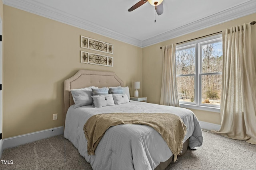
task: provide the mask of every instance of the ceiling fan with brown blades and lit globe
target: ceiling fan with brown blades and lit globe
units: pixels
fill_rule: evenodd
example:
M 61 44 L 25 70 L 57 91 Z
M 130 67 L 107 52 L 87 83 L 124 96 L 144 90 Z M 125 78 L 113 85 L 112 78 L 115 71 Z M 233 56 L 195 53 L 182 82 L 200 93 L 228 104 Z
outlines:
M 149 2 L 152 6 L 155 6 L 156 13 L 160 16 L 164 13 L 164 6 L 163 6 L 163 0 L 140 0 L 137 2 L 134 6 L 132 6 L 128 11 L 131 12 L 135 10 L 136 8 L 142 6 L 146 2 Z

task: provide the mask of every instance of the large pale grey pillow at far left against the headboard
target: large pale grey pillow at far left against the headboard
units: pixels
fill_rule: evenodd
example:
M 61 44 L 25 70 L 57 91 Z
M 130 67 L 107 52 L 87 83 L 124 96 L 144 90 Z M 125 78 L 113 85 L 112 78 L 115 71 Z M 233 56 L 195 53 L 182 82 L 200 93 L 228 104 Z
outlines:
M 92 90 L 91 89 L 71 89 L 71 94 L 75 103 L 74 108 L 92 105 Z

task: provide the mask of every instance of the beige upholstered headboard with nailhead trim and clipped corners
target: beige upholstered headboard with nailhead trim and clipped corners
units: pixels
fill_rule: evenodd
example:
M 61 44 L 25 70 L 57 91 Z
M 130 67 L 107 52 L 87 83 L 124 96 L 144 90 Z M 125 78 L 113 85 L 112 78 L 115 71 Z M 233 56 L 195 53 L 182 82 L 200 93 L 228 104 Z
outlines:
M 84 88 L 89 86 L 115 87 L 123 86 L 123 81 L 114 72 L 79 70 L 74 76 L 64 81 L 64 123 L 68 108 L 74 104 L 70 89 Z

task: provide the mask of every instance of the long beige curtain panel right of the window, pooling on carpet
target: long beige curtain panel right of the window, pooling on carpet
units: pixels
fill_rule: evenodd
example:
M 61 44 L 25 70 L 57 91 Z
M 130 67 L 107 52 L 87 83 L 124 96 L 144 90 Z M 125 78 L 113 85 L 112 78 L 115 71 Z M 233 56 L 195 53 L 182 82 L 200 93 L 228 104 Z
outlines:
M 222 31 L 221 127 L 212 131 L 256 145 L 256 64 L 250 23 Z

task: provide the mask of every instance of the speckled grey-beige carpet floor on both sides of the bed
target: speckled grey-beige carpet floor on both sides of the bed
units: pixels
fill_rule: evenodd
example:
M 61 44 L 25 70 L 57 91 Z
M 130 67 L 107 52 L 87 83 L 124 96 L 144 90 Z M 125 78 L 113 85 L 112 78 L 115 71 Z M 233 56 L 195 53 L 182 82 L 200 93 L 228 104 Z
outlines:
M 256 170 L 256 145 L 209 131 L 203 131 L 203 137 L 202 147 L 188 149 L 166 170 Z M 1 162 L 1 170 L 92 170 L 63 135 L 5 149 Z

